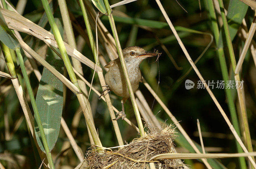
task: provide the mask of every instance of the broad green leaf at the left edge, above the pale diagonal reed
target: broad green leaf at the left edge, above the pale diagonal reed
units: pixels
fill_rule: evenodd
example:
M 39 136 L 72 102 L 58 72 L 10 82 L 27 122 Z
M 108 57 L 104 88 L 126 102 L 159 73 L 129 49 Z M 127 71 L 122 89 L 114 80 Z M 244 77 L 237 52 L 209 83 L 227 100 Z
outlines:
M 14 36 L 12 31 L 8 28 L 4 17 L 0 11 L 0 40 L 4 43 L 4 45 L 8 46 L 11 49 L 15 49 L 20 47 L 20 43 L 18 39 Z

